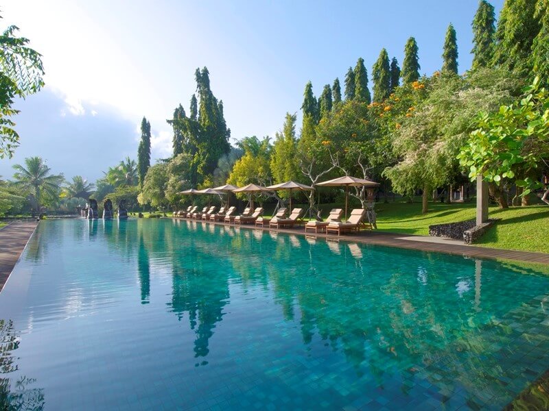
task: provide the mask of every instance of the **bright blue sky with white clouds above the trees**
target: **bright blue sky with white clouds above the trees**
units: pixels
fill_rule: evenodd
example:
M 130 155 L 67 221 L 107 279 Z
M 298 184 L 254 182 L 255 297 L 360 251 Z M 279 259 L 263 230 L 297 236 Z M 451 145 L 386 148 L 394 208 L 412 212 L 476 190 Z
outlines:
M 496 16 L 504 0 L 491 0 Z M 478 0 L 8 0 L 1 29 L 17 25 L 43 55 L 46 86 L 16 102 L 21 145 L 0 159 L 0 175 L 40 155 L 54 173 L 90 181 L 126 156 L 137 160 L 141 119 L 152 129 L 152 162 L 170 157 L 166 123 L 187 113 L 194 71 L 207 66 L 224 103 L 231 142 L 274 137 L 286 112 L 297 113 L 310 80 L 318 97 L 343 82 L 358 58 L 379 51 L 401 65 L 414 36 L 421 73 L 440 69 L 446 29 L 457 32 L 459 71 L 471 66 Z M 371 82 L 370 82 L 371 88 Z

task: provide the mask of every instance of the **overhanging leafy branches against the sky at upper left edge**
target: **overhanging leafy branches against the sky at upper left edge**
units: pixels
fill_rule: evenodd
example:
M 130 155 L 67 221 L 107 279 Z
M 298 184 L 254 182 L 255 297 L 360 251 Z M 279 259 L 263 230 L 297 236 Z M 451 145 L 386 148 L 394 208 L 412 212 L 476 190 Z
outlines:
M 19 113 L 12 108 L 14 98 L 25 98 L 44 85 L 41 55 L 27 46 L 27 38 L 16 36 L 18 30 L 12 25 L 0 35 L 0 158 L 11 158 L 19 145 L 10 119 Z

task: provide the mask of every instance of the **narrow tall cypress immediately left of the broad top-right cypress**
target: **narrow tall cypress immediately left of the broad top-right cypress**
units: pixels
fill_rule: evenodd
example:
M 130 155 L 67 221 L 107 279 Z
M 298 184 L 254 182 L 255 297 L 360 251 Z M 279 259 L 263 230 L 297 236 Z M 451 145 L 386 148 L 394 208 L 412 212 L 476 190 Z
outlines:
M 473 19 L 473 69 L 487 67 L 493 58 L 495 13 L 493 5 L 480 0 Z

